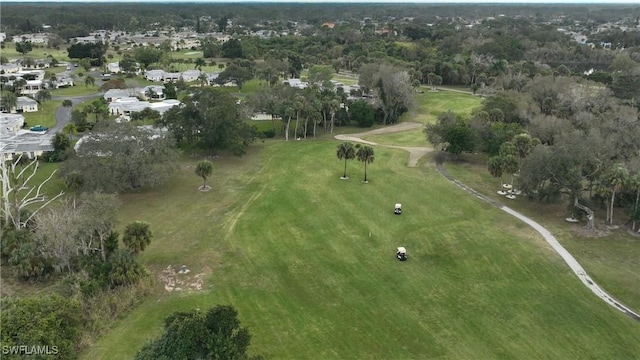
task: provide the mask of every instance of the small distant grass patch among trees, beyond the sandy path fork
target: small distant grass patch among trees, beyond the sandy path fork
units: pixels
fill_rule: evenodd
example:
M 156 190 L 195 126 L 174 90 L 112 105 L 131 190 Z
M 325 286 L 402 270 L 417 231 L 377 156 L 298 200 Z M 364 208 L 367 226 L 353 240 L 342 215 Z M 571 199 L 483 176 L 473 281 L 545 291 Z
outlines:
M 449 110 L 456 114 L 470 115 L 471 111 L 482 104 L 482 98 L 462 92 L 440 89 L 428 91 L 422 87 L 423 94 L 417 94 L 418 110 L 412 121 L 421 123 L 434 122 L 438 115 Z

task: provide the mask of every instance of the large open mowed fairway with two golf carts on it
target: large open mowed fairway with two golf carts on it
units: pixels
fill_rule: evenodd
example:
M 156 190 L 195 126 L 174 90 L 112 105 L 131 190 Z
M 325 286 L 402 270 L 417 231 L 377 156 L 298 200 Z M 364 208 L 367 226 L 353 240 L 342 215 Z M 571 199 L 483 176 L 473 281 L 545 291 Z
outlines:
M 122 196 L 122 227 L 151 224 L 153 276 L 187 265 L 204 283 L 167 292 L 158 280 L 82 357 L 132 358 L 172 312 L 230 304 L 270 359 L 638 358 L 640 324 L 526 225 L 431 161 L 407 168 L 400 150 L 375 148 L 369 184 L 356 161 L 340 180 L 337 144 L 274 140 L 216 159 L 207 193 L 189 158 L 167 185 Z

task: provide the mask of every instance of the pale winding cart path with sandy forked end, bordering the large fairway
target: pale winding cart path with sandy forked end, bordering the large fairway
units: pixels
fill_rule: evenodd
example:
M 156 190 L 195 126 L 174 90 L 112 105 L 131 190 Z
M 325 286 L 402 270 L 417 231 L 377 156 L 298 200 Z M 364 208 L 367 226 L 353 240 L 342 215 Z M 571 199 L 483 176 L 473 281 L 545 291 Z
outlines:
M 367 131 L 364 133 L 336 135 L 335 138 L 337 140 L 354 141 L 354 142 L 364 143 L 372 146 L 385 146 L 385 147 L 394 148 L 394 149 L 404 149 L 409 152 L 409 161 L 407 166 L 415 167 L 418 163 L 418 160 L 420 160 L 420 158 L 422 158 L 427 153 L 433 151 L 432 148 L 383 145 L 383 144 L 377 144 L 371 141 L 363 140 L 362 137 L 368 136 L 368 135 L 376 135 L 376 134 L 388 134 L 388 133 L 394 133 L 398 131 L 415 130 L 422 126 L 423 125 L 419 123 L 406 122 L 406 123 L 400 123 L 393 126 L 389 126 L 386 128 Z M 611 305 L 614 309 L 622 312 L 623 314 L 627 315 L 631 319 L 640 322 L 640 314 L 638 314 L 637 312 L 634 312 L 629 307 L 623 305 L 621 302 L 614 299 L 611 295 L 609 295 L 606 291 L 604 291 L 598 284 L 596 284 L 591 279 L 591 277 L 589 277 L 589 275 L 584 270 L 584 268 L 578 263 L 578 261 L 567 251 L 567 249 L 565 249 L 562 245 L 560 245 L 558 240 L 555 238 L 555 236 L 553 236 L 553 234 L 551 234 L 551 232 L 549 232 L 549 230 L 545 229 L 542 225 L 538 224 L 533 219 L 527 216 L 524 216 L 523 214 L 507 206 L 504 206 L 503 204 L 500 204 L 499 202 L 494 201 L 485 195 L 480 194 L 479 192 L 473 190 L 472 188 L 456 180 L 453 176 L 447 173 L 447 171 L 442 166 L 444 162 L 443 159 L 444 159 L 444 156 L 436 157 L 436 167 L 438 169 L 438 172 L 440 172 L 442 176 L 444 176 L 447 180 L 451 181 L 453 184 L 455 184 L 462 190 L 468 192 L 469 194 L 506 212 L 511 216 L 514 216 L 518 220 L 531 226 L 534 230 L 540 233 L 540 235 L 542 235 L 542 237 L 551 246 L 551 248 L 556 253 L 558 253 L 558 255 L 560 255 L 560 257 L 564 260 L 564 262 L 567 263 L 569 268 L 576 274 L 576 276 L 578 276 L 578 279 L 584 284 L 584 286 L 586 286 L 589 290 L 591 290 L 596 296 L 604 300 L 607 304 Z

